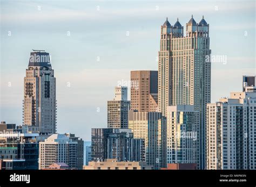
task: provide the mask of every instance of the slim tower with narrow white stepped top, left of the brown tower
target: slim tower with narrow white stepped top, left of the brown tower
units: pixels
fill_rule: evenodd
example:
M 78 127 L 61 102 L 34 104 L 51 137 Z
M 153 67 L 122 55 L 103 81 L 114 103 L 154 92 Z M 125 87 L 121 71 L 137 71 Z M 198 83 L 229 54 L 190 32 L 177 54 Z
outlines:
M 114 99 L 107 101 L 107 128 L 128 128 L 127 87 L 115 87 Z

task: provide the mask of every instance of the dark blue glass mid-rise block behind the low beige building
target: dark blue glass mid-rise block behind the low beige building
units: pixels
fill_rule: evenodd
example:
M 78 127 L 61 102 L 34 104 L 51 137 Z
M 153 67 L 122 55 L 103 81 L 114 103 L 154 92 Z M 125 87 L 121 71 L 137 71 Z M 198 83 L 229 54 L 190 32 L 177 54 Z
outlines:
M 92 128 L 92 161 L 145 161 L 144 139 L 134 139 L 130 129 Z

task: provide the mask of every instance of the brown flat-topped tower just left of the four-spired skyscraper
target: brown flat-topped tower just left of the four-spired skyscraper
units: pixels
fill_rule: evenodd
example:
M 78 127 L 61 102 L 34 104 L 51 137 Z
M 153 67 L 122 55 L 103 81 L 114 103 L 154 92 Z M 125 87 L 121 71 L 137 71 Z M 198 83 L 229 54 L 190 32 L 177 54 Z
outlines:
M 158 111 L 157 71 L 131 71 L 131 110 Z

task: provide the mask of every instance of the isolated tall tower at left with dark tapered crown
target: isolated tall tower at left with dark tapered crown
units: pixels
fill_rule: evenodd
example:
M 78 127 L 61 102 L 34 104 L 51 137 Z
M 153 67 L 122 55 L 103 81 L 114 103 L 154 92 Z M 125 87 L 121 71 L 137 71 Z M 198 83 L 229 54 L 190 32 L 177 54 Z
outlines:
M 56 78 L 50 55 L 30 53 L 24 77 L 23 124 L 41 133 L 56 133 Z

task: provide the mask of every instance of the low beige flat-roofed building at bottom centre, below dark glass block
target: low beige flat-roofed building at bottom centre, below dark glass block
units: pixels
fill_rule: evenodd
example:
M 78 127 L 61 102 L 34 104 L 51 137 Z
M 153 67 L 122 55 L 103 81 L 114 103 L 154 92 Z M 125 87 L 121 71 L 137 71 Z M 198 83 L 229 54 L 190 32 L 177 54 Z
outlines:
M 146 162 L 118 162 L 117 159 L 107 159 L 105 162 L 89 162 L 84 170 L 151 170 Z

